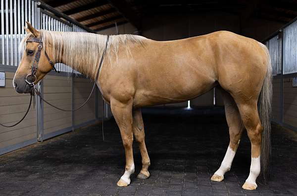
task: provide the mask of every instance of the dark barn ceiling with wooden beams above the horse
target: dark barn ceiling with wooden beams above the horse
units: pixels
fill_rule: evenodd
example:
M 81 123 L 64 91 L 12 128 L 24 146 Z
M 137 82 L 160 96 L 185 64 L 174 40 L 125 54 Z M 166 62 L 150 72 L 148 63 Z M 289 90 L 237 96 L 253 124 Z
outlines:
M 297 17 L 297 0 L 43 0 L 92 30 L 130 22 L 141 30 L 141 19 L 159 13 L 224 11 L 242 22 L 261 18 L 288 23 Z

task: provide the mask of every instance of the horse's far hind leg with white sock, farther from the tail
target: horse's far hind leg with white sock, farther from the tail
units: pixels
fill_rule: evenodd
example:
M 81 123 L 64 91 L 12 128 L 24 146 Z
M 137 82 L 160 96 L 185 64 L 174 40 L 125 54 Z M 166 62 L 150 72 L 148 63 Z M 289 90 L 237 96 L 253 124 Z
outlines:
M 243 132 L 241 116 L 234 99 L 226 91 L 221 91 L 224 99 L 226 119 L 229 126 L 230 142 L 220 168 L 211 177 L 212 181 L 217 182 L 224 180 L 224 174 L 230 170 Z

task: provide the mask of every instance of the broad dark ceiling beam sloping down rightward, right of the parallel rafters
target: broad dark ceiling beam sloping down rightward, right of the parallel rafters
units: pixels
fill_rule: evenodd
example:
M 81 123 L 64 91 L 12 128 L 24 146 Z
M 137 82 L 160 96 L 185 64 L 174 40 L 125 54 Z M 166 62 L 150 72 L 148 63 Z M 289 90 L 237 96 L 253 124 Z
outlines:
M 108 0 L 120 13 L 123 14 L 124 18 L 135 26 L 138 30 L 141 30 L 141 21 L 139 14 L 131 8 L 131 4 L 125 0 Z

